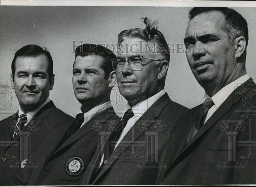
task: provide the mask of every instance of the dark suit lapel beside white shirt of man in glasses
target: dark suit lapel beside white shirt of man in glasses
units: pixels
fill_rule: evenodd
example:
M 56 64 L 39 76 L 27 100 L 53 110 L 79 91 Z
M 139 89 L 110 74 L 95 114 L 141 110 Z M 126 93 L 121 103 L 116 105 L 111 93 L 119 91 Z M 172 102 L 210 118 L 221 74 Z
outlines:
M 127 134 L 124 136 L 123 141 L 125 141 L 125 145 L 123 146 L 117 146 L 116 149 L 113 151 L 111 155 L 111 161 L 112 163 L 115 162 L 115 160 L 124 152 L 124 150 L 131 145 L 143 132 L 147 130 L 148 127 L 150 127 L 154 122 L 155 118 L 158 118 L 160 113 L 162 112 L 163 108 L 171 102 L 171 99 L 169 98 L 168 94 L 165 93 L 162 97 L 160 97 L 156 102 L 153 103 L 153 105 L 141 116 L 138 121 L 132 126 L 132 128 L 127 132 Z M 147 123 L 147 127 L 142 127 L 143 125 L 140 124 L 142 122 L 145 124 Z M 141 126 L 141 127 L 140 127 Z M 144 128 L 142 130 L 142 128 Z M 119 143 L 121 145 L 122 142 Z M 112 159 L 113 158 L 113 159 Z M 99 175 L 94 180 L 97 181 L 99 177 L 111 166 L 111 162 L 107 162 L 105 164 L 105 167 L 102 168 Z

